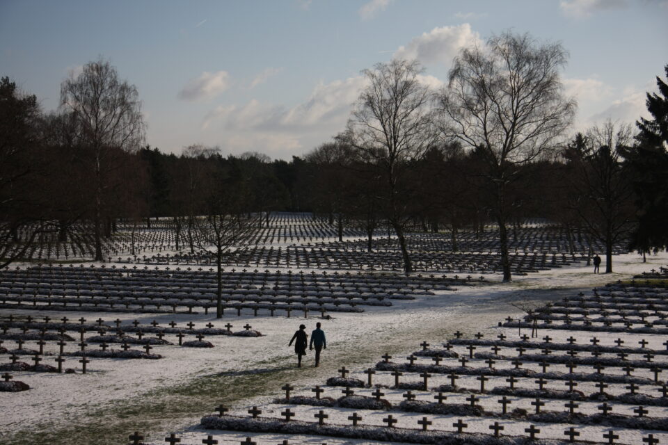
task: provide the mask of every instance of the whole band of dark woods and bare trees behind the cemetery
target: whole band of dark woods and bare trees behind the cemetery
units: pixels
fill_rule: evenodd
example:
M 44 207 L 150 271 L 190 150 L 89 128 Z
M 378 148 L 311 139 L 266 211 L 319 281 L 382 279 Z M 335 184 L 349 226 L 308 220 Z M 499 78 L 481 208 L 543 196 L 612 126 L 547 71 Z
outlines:
M 601 241 L 611 272 L 616 243 L 643 254 L 668 245 L 668 87 L 657 77 L 658 92 L 648 93 L 651 120 L 568 138 L 576 104 L 560 80 L 565 63 L 561 45 L 514 33 L 462 49 L 438 88 L 415 61 L 379 63 L 363 72 L 347 126 L 289 161 L 150 147 L 138 91 L 106 60 L 70 74 L 51 113 L 3 77 L 0 268 L 45 236 L 102 260 L 119 220 L 150 227 L 169 218 L 177 249 L 194 252 L 202 239 L 239 242 L 227 229 L 224 239 L 202 238 L 202 216 L 210 235 L 212 216 L 218 228 L 225 218 L 260 227 L 272 211 L 310 211 L 340 238 L 345 226 L 365 229 L 369 250 L 388 229 L 407 273 L 406 231 L 447 231 L 457 250 L 461 229 L 494 223 L 509 281 L 508 240 L 530 216 L 561 223 L 569 239 Z

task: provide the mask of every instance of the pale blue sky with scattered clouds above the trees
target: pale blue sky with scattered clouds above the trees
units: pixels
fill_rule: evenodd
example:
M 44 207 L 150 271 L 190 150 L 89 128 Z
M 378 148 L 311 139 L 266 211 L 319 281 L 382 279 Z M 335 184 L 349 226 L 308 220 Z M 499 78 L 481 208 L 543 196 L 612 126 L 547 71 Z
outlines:
M 103 58 L 138 89 L 152 147 L 291 159 L 344 129 L 362 70 L 417 59 L 438 88 L 461 48 L 504 31 L 568 51 L 573 131 L 633 123 L 667 23 L 668 0 L 0 0 L 0 76 L 54 111 L 70 72 Z

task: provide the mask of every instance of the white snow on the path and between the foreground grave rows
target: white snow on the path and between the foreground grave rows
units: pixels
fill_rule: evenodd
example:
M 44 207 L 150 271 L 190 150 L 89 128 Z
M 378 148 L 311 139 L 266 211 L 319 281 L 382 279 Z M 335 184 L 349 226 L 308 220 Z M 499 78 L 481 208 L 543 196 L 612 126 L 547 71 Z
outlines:
M 544 302 L 552 300 L 560 300 L 564 296 L 575 296 L 579 291 L 591 295 L 591 288 L 594 286 L 603 286 L 607 282 L 615 280 L 628 279 L 634 274 L 642 271 L 650 270 L 651 268 L 658 268 L 665 266 L 668 263 L 668 254 L 662 253 L 656 256 L 648 256 L 648 262 L 642 263 L 637 254 L 624 254 L 619 257 L 614 257 L 614 270 L 616 273 L 594 275 L 591 273 L 593 267 L 587 267 L 583 264 L 573 264 L 568 267 L 556 268 L 552 270 L 543 270 L 539 273 L 532 273 L 522 277 L 515 277 L 511 284 L 501 284 L 499 277 L 489 277 L 489 280 L 494 282 L 491 284 L 481 284 L 477 286 L 461 286 L 455 291 L 436 291 L 434 296 L 417 296 L 415 300 L 392 300 L 391 307 L 364 307 L 363 313 L 337 313 L 333 314 L 331 320 L 321 320 L 323 328 L 327 333 L 328 349 L 323 351 L 324 366 L 321 369 L 314 370 L 309 373 L 308 378 L 298 378 L 292 384 L 296 386 L 294 394 L 302 394 L 311 396 L 309 389 L 315 385 L 324 385 L 327 378 L 336 375 L 335 369 L 338 366 L 345 365 L 351 369 L 351 377 L 366 381 L 366 375 L 361 373 L 363 369 L 369 366 L 374 366 L 379 362 L 380 356 L 383 353 L 390 353 L 395 355 L 397 362 L 403 362 L 404 357 L 411 353 L 420 350 L 418 346 L 423 340 L 427 340 L 432 344 L 432 347 L 439 345 L 439 342 L 446 341 L 447 338 L 452 337 L 455 330 L 464 332 L 468 337 L 471 337 L 475 332 L 482 332 L 486 339 L 495 338 L 497 334 L 504 333 L 509 339 L 518 339 L 518 332 L 522 334 L 530 334 L 530 330 L 522 328 L 497 327 L 497 322 L 501 321 L 506 316 L 511 316 L 515 319 L 523 315 L 515 307 L 510 305 L 511 302 Z M 3 309 L 3 315 L 15 314 L 22 316 L 36 316 L 37 313 L 26 309 Z M 296 330 L 299 323 L 305 323 L 307 330 L 315 327 L 317 321 L 317 314 L 309 316 L 304 319 L 302 316 L 295 316 L 287 318 L 285 316 L 257 316 L 252 314 L 242 313 L 240 317 L 235 314 L 228 314 L 226 312 L 222 321 L 216 320 L 214 314 L 132 314 L 123 312 L 49 312 L 51 318 L 61 318 L 67 316 L 69 318 L 78 318 L 83 315 L 88 320 L 95 320 L 98 317 L 104 318 L 105 321 L 111 321 L 120 318 L 122 323 L 128 324 L 133 320 L 138 320 L 141 323 L 150 323 L 150 321 L 158 321 L 162 325 L 175 321 L 179 325 L 183 325 L 189 321 L 193 321 L 196 327 L 203 328 L 209 322 L 214 323 L 216 327 L 223 327 L 224 323 L 232 323 L 235 327 L 241 327 L 246 323 L 253 325 L 253 328 L 262 332 L 263 337 L 232 337 L 232 336 L 207 336 L 205 341 L 209 341 L 214 345 L 214 348 L 183 348 L 177 346 L 178 339 L 172 335 L 166 335 L 165 339 L 173 343 L 172 345 L 154 346 L 152 353 L 162 355 L 162 359 L 146 360 L 146 359 L 105 359 L 105 358 L 91 358 L 88 364 L 88 373 L 81 374 L 58 374 L 58 373 L 31 373 L 31 372 L 15 372 L 14 380 L 23 381 L 30 385 L 29 391 L 22 391 L 16 393 L 3 393 L 3 406 L 12 407 L 11 410 L 3 410 L 3 415 L 0 416 L 0 442 L 3 437 L 11 437 L 13 433 L 26 430 L 29 428 L 38 428 L 40 425 L 51 422 L 60 422 L 62 419 L 85 419 L 88 414 L 98 408 L 113 404 L 115 401 L 127 400 L 129 398 L 143 397 L 150 394 L 155 389 L 170 387 L 181 382 L 192 380 L 193 378 L 201 378 L 207 375 L 218 375 L 225 373 L 226 375 L 234 375 L 235 373 L 244 373 L 246 371 L 262 372 L 266 367 L 280 367 L 280 366 L 294 366 L 294 357 L 292 348 L 287 346 L 289 338 L 292 337 L 292 332 Z M 10 332 L 18 332 L 12 331 Z M 94 332 L 90 333 L 91 336 Z M 663 349 L 662 341 L 665 337 L 658 337 L 649 334 L 617 334 L 605 332 L 573 332 L 568 330 L 557 329 L 541 329 L 539 330 L 539 337 L 549 335 L 553 338 L 553 342 L 566 341 L 566 338 L 571 335 L 578 337 L 579 344 L 588 344 L 591 337 L 597 337 L 601 340 L 601 344 L 606 346 L 614 346 L 614 339 L 623 337 L 627 342 L 626 345 L 635 347 L 636 342 L 640 339 L 649 341 L 649 348 Z M 78 340 L 78 339 L 77 339 Z M 186 337 L 184 340 L 195 340 L 194 337 Z M 534 339 L 534 341 L 536 341 Z M 14 342 L 6 340 L 3 346 L 13 348 Z M 626 346 L 625 345 L 625 346 Z M 538 345 L 537 345 L 538 346 Z M 97 345 L 89 347 L 97 348 Z M 34 341 L 26 342 L 26 348 L 35 348 Z M 136 348 L 139 348 L 136 346 Z M 66 350 L 74 352 L 77 346 L 70 343 Z M 47 342 L 45 347 L 46 353 L 57 353 L 58 346 L 54 341 Z M 462 347 L 456 347 L 460 355 L 468 357 L 468 351 Z M 479 347 L 476 352 L 486 352 L 488 347 Z M 371 351 L 371 353 L 369 353 Z M 557 352 L 559 354 L 565 351 Z M 539 353 L 538 350 L 527 353 Z M 360 355 L 361 354 L 361 355 Z M 503 348 L 501 354 L 513 355 L 514 348 Z M 580 353 L 582 357 L 589 357 L 587 353 Z M 606 357 L 610 355 L 602 355 Z M 614 357 L 614 355 L 612 355 Z M 7 361 L 7 355 L 0 356 L 1 362 Z M 63 368 L 72 367 L 80 369 L 78 363 L 79 357 L 65 357 L 67 360 L 63 363 Z M 629 359 L 640 359 L 642 357 L 630 356 Z M 76 361 L 75 361 L 76 360 Z M 477 359 L 475 359 L 477 360 Z M 655 361 L 666 362 L 668 356 L 657 355 Z M 258 362 L 262 362 L 259 364 Z M 310 366 L 312 361 L 312 353 L 305 357 L 305 364 Z M 394 361 L 394 360 L 393 360 Z M 447 361 L 456 363 L 456 359 L 444 359 L 443 364 Z M 480 364 L 475 366 L 486 366 L 482 364 L 482 360 L 477 360 Z M 26 360 L 27 362 L 27 360 Z M 429 357 L 418 358 L 417 363 L 432 364 Z M 45 357 L 42 364 L 56 365 L 52 358 Z M 74 365 L 77 366 L 74 366 Z M 474 364 L 468 364 L 473 366 Z M 506 364 L 497 364 L 495 367 L 503 369 Z M 540 366 L 537 363 L 524 365 L 534 371 L 539 371 Z M 587 369 L 585 371 L 584 369 Z M 564 365 L 552 364 L 548 371 L 568 372 Z M 578 366 L 576 372 L 594 372 L 588 366 Z M 622 371 L 610 369 L 606 373 L 619 373 Z M 668 372 L 668 371 L 666 371 Z M 634 376 L 653 378 L 653 375 L 646 369 L 636 369 Z M 389 374 L 378 371 L 374 375 L 374 383 L 382 383 L 383 385 L 393 385 L 394 378 Z M 421 379 L 417 374 L 410 375 L 405 373 L 402 376 L 402 382 L 415 381 L 419 382 Z M 527 380 L 526 382 L 524 380 Z M 534 378 L 520 379 L 518 387 L 534 388 Z M 436 387 L 438 385 L 449 384 L 445 375 L 434 375 L 429 380 L 429 387 Z M 238 405 L 232 406 L 232 413 L 237 412 L 244 416 L 248 416 L 246 411 L 248 407 L 257 405 L 260 409 L 266 411 L 264 415 L 278 417 L 279 410 L 292 405 L 273 405 L 272 401 L 280 396 L 280 386 L 284 382 L 276 382 L 276 391 L 271 394 L 259 394 L 253 399 L 246 400 Z M 564 390 L 566 387 L 562 386 L 563 381 L 552 381 L 546 388 Z M 479 388 L 479 382 L 475 380 L 475 376 L 463 377 L 457 382 L 458 386 L 467 387 L 471 389 Z M 505 386 L 504 378 L 491 377 L 491 380 L 486 382 L 486 388 L 491 389 L 495 386 Z M 628 391 L 623 389 L 623 385 L 610 384 L 606 389 L 609 394 L 623 394 Z M 324 386 L 323 386 L 324 387 Z M 331 396 L 339 398 L 342 396 L 340 389 L 333 387 L 324 387 L 326 392 L 323 396 Z M 577 388 L 585 394 L 596 392 L 597 389 L 593 385 L 581 383 Z M 372 389 L 354 389 L 356 394 L 370 396 Z M 394 404 L 400 403 L 403 398 L 401 395 L 405 391 L 383 389 L 385 392 L 384 398 Z M 657 391 L 653 390 L 651 385 L 640 385 L 638 390 L 641 394 L 650 394 L 658 396 Z M 413 391 L 417 395 L 418 400 L 429 400 L 429 396 L 433 394 L 422 393 L 420 391 Z M 463 403 L 464 399 L 470 394 L 446 394 L 448 396 L 447 403 Z M 479 396 L 481 400 L 479 404 L 485 410 L 500 411 L 500 405 L 495 401 L 500 396 Z M 526 405 L 527 398 L 510 397 L 513 401 L 509 405 L 509 410 L 516 407 L 525 408 L 532 412 L 533 407 Z M 564 401 L 550 401 L 544 400 L 546 405 L 543 410 L 562 411 L 564 410 Z M 595 414 L 597 412 L 594 402 L 579 402 L 578 412 L 585 414 Z M 615 405 L 617 414 L 633 415 L 633 405 Z M 618 408 L 619 407 L 619 410 Z M 667 408 L 665 407 L 646 407 L 649 410 L 650 417 L 665 417 Z M 296 409 L 297 419 L 312 422 L 313 414 L 318 410 L 324 409 L 322 407 L 299 406 Z M 342 425 L 349 424 L 347 416 L 353 411 L 360 412 L 364 417 L 365 424 L 382 426 L 382 418 L 387 415 L 386 412 L 373 412 L 361 410 L 336 408 L 335 410 L 328 410 L 330 418 L 328 423 L 340 423 Z M 213 407 L 211 407 L 213 412 Z M 419 428 L 417 420 L 421 419 L 424 414 L 420 413 L 401 413 L 397 416 L 401 428 Z M 452 423 L 456 419 L 463 419 L 468 423 L 467 432 L 484 432 L 488 434 L 488 425 L 491 423 L 490 419 L 481 419 L 477 417 L 466 416 L 429 416 L 434 421 L 431 429 L 444 429 L 452 431 Z M 256 441 L 264 443 L 278 443 L 282 440 L 276 434 L 269 435 L 247 435 L 246 433 L 235 432 L 221 432 L 209 431 L 205 432 L 198 428 L 198 417 L 195 414 L 189 418 L 175 419 L 175 423 L 180 424 L 182 430 L 179 432 L 180 437 L 183 438 L 182 444 L 187 443 L 201 443 L 201 439 L 207 434 L 212 434 L 221 444 L 239 443 L 240 440 L 246 436 L 253 437 Z M 504 435 L 525 435 L 524 428 L 529 426 L 529 422 L 517 421 L 504 423 Z M 536 424 L 541 428 L 539 437 L 555 439 L 564 439 L 563 431 L 569 426 L 564 423 L 544 423 Z M 594 440 L 602 442 L 601 435 L 609 427 L 605 426 L 583 426 L 578 427 L 581 435 L 578 439 Z M 129 433 L 129 432 L 128 432 Z M 619 430 L 620 444 L 635 445 L 641 442 L 641 433 L 646 432 L 639 430 Z M 662 442 L 668 440 L 668 434 L 665 432 L 654 432 L 655 437 L 658 437 Z M 164 435 L 156 435 L 148 439 L 156 443 L 162 443 Z M 287 438 L 287 437 L 283 437 Z M 290 436 L 290 443 L 295 444 L 312 444 L 315 440 L 326 441 L 328 444 L 340 443 L 367 443 L 363 440 L 354 439 L 333 439 L 332 437 L 320 437 L 314 439 L 308 435 Z M 318 442 L 318 443 L 321 443 Z M 258 442 L 260 443 L 260 442 Z

